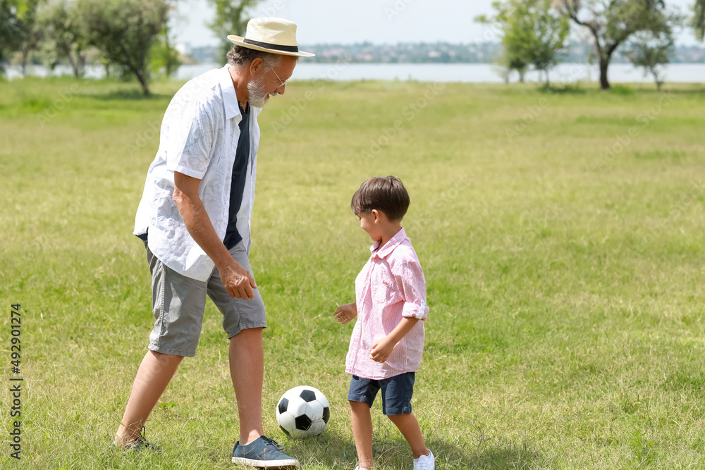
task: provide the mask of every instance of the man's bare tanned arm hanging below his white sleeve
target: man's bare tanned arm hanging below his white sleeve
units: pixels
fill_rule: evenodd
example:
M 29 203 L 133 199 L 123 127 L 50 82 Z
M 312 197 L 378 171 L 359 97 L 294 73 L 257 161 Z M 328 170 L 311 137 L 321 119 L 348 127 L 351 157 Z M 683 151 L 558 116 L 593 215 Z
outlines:
M 198 178 L 174 172 L 173 200 L 183 223 L 193 240 L 215 263 L 228 294 L 238 299 L 253 299 L 253 289 L 257 289 L 255 279 L 250 275 L 250 271 L 233 259 L 223 245 L 223 240 L 218 237 L 198 196 L 200 183 Z

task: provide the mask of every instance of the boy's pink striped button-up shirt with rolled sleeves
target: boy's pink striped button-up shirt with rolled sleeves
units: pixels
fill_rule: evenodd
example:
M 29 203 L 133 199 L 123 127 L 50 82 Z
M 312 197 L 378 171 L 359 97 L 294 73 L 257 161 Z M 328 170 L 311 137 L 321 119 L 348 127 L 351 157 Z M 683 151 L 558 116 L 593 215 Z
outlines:
M 403 316 L 425 320 L 426 280 L 404 229 L 379 250 L 376 242 L 355 279 L 357 321 L 345 359 L 345 372 L 379 380 L 419 370 L 424 352 L 424 322 L 416 323 L 384 362 L 369 359 L 369 350 L 396 328 Z

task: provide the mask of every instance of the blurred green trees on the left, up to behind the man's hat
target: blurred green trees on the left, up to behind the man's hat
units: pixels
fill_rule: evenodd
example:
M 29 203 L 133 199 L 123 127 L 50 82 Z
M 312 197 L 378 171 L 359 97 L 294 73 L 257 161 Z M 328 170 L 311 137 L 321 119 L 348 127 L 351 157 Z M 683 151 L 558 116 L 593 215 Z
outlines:
M 169 19 L 177 0 L 0 0 L 0 73 L 15 57 L 23 75 L 32 57 L 53 70 L 68 63 L 79 78 L 102 63 L 107 76 L 134 77 L 149 94 L 154 73 L 171 76 L 180 66 Z M 243 35 L 245 13 L 259 0 L 209 0 L 209 25 L 223 39 Z M 227 42 L 227 44 L 230 44 Z

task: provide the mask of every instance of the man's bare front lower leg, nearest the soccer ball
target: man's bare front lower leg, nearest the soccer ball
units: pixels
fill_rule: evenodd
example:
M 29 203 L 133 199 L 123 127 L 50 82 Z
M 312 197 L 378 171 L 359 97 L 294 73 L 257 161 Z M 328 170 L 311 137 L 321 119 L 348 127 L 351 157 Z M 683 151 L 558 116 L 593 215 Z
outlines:
M 230 338 L 230 373 L 238 400 L 240 445 L 264 435 L 262 426 L 262 382 L 264 347 L 262 328 L 242 330 Z

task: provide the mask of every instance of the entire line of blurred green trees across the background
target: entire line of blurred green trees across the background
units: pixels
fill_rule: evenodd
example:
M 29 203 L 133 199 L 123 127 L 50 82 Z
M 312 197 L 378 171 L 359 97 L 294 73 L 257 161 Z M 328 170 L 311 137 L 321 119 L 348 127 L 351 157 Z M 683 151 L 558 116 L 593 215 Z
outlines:
M 102 63 L 106 75 L 134 77 L 149 94 L 149 78 L 171 76 L 180 61 L 173 48 L 169 19 L 178 0 L 0 0 L 0 73 L 8 58 L 18 58 L 23 74 L 30 58 L 53 69 L 68 63 L 76 77 L 85 66 Z M 247 13 L 260 0 L 209 0 L 215 16 L 209 27 L 222 39 L 244 35 Z M 498 0 L 494 16 L 478 16 L 496 26 L 503 53 L 498 64 L 520 80 L 530 68 L 543 73 L 549 85 L 551 68 L 559 61 L 571 27 L 591 42 L 599 62 L 600 85 L 610 87 L 607 70 L 618 47 L 627 57 L 663 81 L 659 66 L 673 54 L 675 32 L 692 27 L 703 41 L 705 0 L 693 0 L 682 15 L 663 0 Z M 274 13 L 274 12 L 273 12 Z

